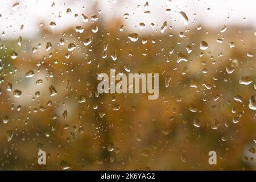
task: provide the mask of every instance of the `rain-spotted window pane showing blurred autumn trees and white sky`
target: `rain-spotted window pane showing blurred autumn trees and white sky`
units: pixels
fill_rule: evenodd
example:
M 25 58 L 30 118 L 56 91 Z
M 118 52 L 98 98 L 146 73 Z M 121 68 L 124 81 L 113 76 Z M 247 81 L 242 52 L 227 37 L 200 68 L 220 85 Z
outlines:
M 1 1 L 0 169 L 256 169 L 255 6 Z M 98 94 L 110 68 L 159 73 L 158 100 Z

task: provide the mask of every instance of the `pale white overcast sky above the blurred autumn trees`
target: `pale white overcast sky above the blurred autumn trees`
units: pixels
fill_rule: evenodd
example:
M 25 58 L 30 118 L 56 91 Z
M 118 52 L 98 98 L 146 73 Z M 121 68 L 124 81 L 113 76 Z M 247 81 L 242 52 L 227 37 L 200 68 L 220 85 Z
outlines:
M 1 0 L 0 2 L 0 34 L 5 32 L 1 39 L 17 38 L 26 36 L 33 38 L 38 33 L 39 24 L 49 27 L 49 23 L 55 21 L 56 30 L 68 26 L 86 26 L 89 22 L 82 22 L 81 14 L 90 18 L 92 15 L 98 17 L 104 23 L 112 23 L 115 18 L 123 20 L 131 31 L 141 31 L 139 23 L 146 24 L 144 31 L 152 31 L 151 23 L 155 23 L 158 28 L 164 21 L 173 28 L 185 28 L 179 12 L 184 11 L 189 19 L 188 27 L 212 26 L 221 28 L 224 24 L 237 24 L 240 26 L 256 27 L 256 2 L 253 0 L 147 0 L 148 7 L 144 7 L 144 0 Z M 19 2 L 18 9 L 13 10 L 12 6 Z M 52 7 L 52 3 L 55 6 Z M 96 5 L 97 6 L 94 6 Z M 139 7 L 138 7 L 139 5 Z M 70 8 L 72 13 L 68 15 L 66 10 Z M 209 8 L 209 10 L 207 10 Z M 171 9 L 170 14 L 166 14 L 166 9 Z M 101 14 L 98 11 L 101 10 Z M 146 15 L 144 11 L 151 11 Z M 125 20 L 123 14 L 129 13 L 129 19 Z M 61 18 L 59 18 L 59 14 Z M 76 20 L 75 14 L 79 17 Z M 196 15 L 194 15 L 196 14 Z M 229 19 L 228 19 L 229 17 Z M 243 19 L 246 18 L 246 19 Z M 23 32 L 20 26 L 24 24 Z

